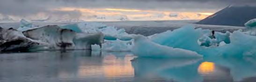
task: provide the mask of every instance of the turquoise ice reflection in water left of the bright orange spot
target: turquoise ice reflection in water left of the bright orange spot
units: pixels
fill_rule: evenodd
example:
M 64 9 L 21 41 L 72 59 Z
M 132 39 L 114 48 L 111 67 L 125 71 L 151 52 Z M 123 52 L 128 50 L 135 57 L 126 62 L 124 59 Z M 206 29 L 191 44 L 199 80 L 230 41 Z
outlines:
M 197 67 L 202 59 L 136 58 L 132 61 L 135 77 L 163 78 L 165 81 L 202 82 Z M 164 81 L 164 82 L 165 82 Z

